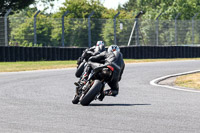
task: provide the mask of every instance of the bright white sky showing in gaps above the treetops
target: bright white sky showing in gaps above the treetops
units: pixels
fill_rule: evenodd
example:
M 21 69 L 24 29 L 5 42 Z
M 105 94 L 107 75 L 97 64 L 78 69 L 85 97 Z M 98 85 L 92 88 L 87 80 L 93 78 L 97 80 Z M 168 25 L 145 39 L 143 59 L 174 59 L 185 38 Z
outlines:
M 112 8 L 112 9 L 117 9 L 118 5 L 123 5 L 124 3 L 128 2 L 129 0 L 101 0 L 103 5 L 107 8 Z M 62 6 L 62 3 L 64 3 L 65 0 L 57 0 L 55 1 L 54 5 L 56 5 L 54 8 L 54 12 L 57 12 L 59 10 L 59 7 Z M 43 7 L 40 5 L 40 3 L 38 4 L 38 9 L 42 10 Z M 48 11 L 47 11 L 48 12 Z

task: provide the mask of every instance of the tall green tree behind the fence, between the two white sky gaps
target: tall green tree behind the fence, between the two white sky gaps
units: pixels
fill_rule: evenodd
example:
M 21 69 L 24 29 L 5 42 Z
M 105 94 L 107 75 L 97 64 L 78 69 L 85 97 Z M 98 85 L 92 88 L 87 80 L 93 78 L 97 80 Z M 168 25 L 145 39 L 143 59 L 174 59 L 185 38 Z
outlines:
M 66 0 L 64 7 L 60 8 L 60 11 L 54 14 L 54 18 L 61 18 L 64 12 L 70 11 L 65 17 L 65 46 L 88 46 L 88 16 L 94 11 L 94 15 L 91 17 L 91 30 L 92 41 L 100 39 L 99 31 L 102 27 L 102 23 L 95 21 L 93 18 L 102 18 L 102 14 L 105 7 L 99 0 Z M 79 19 L 73 19 L 79 18 Z M 61 23 L 61 20 L 60 22 Z M 53 28 L 52 39 L 54 42 L 61 43 L 61 28 L 57 25 Z

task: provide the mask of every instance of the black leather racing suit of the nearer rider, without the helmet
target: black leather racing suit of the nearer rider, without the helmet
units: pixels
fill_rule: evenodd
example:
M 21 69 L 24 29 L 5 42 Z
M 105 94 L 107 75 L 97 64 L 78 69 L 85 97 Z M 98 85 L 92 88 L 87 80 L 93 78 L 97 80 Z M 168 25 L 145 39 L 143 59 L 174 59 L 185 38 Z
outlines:
M 102 62 L 102 60 L 104 62 Z M 88 64 L 92 67 L 92 69 L 105 65 L 111 65 L 112 67 L 114 67 L 113 75 L 111 77 L 111 80 L 108 82 L 108 85 L 111 88 L 111 91 L 109 92 L 111 94 L 108 95 L 116 96 L 119 92 L 118 82 L 121 80 L 121 76 L 125 67 L 123 55 L 121 54 L 121 52 L 104 51 L 96 56 L 90 57 Z

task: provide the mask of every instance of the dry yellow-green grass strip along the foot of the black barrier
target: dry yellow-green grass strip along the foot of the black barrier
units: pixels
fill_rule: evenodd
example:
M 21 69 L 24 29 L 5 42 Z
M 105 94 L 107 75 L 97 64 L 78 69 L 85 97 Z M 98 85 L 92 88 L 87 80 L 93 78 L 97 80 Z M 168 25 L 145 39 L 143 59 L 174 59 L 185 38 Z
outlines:
M 124 60 L 125 63 L 142 63 L 142 62 L 176 61 L 176 60 L 191 60 L 191 59 L 124 59 Z M 192 58 L 192 60 L 200 60 L 200 58 Z M 60 69 L 60 68 L 70 68 L 70 67 L 76 67 L 76 60 L 0 62 L 0 72 Z

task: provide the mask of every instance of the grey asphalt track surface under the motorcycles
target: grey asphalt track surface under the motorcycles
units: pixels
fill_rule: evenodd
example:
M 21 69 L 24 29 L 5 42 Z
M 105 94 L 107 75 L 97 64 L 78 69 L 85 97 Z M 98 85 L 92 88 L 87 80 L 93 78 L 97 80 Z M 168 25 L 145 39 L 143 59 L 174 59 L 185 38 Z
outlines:
M 127 64 L 120 93 L 73 105 L 75 69 L 0 74 L 0 133 L 197 133 L 200 93 L 150 85 L 200 61 Z

